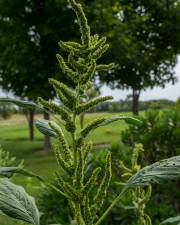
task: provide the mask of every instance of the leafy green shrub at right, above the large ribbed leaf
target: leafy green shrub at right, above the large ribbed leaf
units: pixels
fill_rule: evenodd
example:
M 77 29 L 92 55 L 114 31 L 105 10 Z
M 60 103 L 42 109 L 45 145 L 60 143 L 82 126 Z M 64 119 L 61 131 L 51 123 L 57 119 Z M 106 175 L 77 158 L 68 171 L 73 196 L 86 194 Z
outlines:
M 180 108 L 150 110 L 139 119 L 141 124 L 132 124 L 122 132 L 125 144 L 142 143 L 149 163 L 180 154 Z

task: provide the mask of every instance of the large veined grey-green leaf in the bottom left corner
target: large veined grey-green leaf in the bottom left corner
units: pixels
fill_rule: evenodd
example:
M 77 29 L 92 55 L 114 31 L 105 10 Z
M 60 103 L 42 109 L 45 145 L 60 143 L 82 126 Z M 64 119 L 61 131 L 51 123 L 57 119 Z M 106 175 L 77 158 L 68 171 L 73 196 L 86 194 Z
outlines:
M 40 214 L 34 198 L 8 179 L 0 179 L 0 210 L 14 219 L 39 225 Z

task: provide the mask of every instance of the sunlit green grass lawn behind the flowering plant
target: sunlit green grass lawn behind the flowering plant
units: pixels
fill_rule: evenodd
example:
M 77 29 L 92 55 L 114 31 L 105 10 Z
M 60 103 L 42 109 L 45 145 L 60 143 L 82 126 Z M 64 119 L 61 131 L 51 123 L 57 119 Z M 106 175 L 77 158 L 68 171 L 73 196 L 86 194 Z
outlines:
M 108 113 L 88 114 L 85 118 L 85 124 L 99 116 L 101 117 L 108 115 Z M 120 114 L 113 114 L 113 116 L 117 115 Z M 120 141 L 121 131 L 126 127 L 127 124 L 124 121 L 115 122 L 108 126 L 98 128 L 91 133 L 89 138 L 93 140 L 93 142 L 96 144 L 95 146 L 104 143 L 115 143 Z M 16 156 L 17 163 L 23 159 L 26 169 L 38 173 L 47 179 L 50 178 L 50 175 L 52 175 L 52 173 L 57 168 L 53 153 L 43 152 L 43 135 L 37 129 L 35 130 L 35 140 L 28 140 L 28 125 L 26 118 L 22 115 L 14 115 L 9 120 L 0 121 L 0 144 L 4 150 L 9 151 L 12 156 Z M 26 190 L 30 194 L 37 194 L 37 190 L 32 188 L 37 184 L 36 181 L 31 181 L 28 178 L 24 178 L 22 176 L 16 176 L 13 179 L 15 180 L 15 183 L 25 186 Z M 28 182 L 30 182 L 30 185 L 27 185 Z M 20 225 L 24 223 L 1 216 L 0 224 Z

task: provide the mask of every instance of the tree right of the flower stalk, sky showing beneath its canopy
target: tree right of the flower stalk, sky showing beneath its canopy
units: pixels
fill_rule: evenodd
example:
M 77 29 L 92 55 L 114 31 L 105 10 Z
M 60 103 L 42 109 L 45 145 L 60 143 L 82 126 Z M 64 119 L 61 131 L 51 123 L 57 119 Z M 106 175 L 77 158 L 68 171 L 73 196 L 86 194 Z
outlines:
M 103 10 L 99 10 L 99 8 Z M 100 76 L 112 88 L 132 89 L 133 112 L 138 113 L 140 92 L 174 83 L 180 49 L 180 2 L 177 0 L 96 1 L 94 27 L 106 33 L 111 49 L 106 54 L 116 68 Z

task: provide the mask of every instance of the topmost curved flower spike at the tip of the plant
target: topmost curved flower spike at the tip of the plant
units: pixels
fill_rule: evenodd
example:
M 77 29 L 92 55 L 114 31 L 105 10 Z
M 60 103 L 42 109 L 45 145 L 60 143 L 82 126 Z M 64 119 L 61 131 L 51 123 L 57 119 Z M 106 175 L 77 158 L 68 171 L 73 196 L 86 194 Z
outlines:
M 89 42 L 90 42 L 90 27 L 88 25 L 83 8 L 82 8 L 81 4 L 76 3 L 75 0 L 69 0 L 69 2 L 71 4 L 72 8 L 74 9 L 77 19 L 78 19 L 78 23 L 80 26 L 80 32 L 82 35 L 81 36 L 82 43 L 83 43 L 83 45 L 88 47 Z

